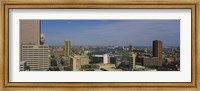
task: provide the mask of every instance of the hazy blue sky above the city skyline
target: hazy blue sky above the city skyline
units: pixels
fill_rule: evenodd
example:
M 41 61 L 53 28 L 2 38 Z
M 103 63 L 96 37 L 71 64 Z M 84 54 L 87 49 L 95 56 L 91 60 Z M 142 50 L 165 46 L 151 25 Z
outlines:
M 180 20 L 41 20 L 45 44 L 152 46 L 180 45 Z

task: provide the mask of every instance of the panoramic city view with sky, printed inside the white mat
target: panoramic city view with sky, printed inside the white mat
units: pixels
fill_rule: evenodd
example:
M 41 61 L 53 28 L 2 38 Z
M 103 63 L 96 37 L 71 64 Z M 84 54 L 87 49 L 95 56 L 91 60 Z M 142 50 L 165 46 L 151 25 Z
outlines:
M 45 33 L 41 20 L 20 21 L 20 71 L 180 71 L 180 48 L 163 47 L 165 42 L 179 41 L 179 27 L 174 26 L 178 21 L 78 20 L 67 21 L 67 27 L 63 25 L 66 21 L 49 23 L 54 31 Z M 176 31 L 163 27 L 169 23 Z M 51 46 L 48 41 L 62 44 Z M 136 47 L 132 43 L 137 45 L 137 41 L 139 45 L 151 42 L 152 47 Z

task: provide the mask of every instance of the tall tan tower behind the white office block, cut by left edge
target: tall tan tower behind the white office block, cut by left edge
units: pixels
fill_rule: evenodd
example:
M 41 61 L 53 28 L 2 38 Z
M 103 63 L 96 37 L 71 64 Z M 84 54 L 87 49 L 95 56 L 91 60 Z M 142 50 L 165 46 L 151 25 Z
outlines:
M 22 45 L 40 45 L 40 20 L 20 20 L 20 61 Z

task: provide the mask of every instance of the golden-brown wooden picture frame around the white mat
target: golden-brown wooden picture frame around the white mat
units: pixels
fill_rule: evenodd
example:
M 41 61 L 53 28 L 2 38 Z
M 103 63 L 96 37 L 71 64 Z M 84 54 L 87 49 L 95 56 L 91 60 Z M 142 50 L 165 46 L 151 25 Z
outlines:
M 46 1 L 27 1 L 27 2 L 12 2 L 2 1 L 2 28 L 1 28 L 1 46 L 3 50 L 1 52 L 1 76 L 2 76 L 2 88 L 23 90 L 199 90 L 199 67 L 198 61 L 198 36 L 199 36 L 199 2 L 117 2 L 117 1 L 58 1 L 58 2 L 46 2 Z M 58 83 L 58 82 L 9 82 L 9 9 L 191 9 L 192 11 L 192 81 L 191 82 L 72 82 L 72 83 Z M 38 87 L 38 88 L 35 88 Z M 44 89 L 45 88 L 45 89 Z

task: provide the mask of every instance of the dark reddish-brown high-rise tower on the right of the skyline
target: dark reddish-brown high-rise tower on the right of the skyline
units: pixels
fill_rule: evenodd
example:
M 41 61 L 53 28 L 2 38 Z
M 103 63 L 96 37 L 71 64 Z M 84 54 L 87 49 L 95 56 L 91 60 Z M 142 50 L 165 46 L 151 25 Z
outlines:
M 153 57 L 158 57 L 159 64 L 162 65 L 162 41 L 153 41 Z

